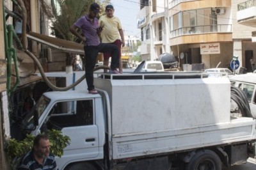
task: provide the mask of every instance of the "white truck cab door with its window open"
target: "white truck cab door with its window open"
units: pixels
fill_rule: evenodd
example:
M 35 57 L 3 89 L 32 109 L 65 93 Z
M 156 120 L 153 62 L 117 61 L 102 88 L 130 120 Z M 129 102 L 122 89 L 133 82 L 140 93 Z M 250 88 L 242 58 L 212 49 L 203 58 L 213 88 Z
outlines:
M 71 142 L 64 155 L 56 158 L 58 164 L 70 160 L 86 160 L 99 155 L 98 128 L 95 125 L 94 100 L 74 100 L 58 102 L 45 119 L 41 132 L 48 129 L 61 130 Z

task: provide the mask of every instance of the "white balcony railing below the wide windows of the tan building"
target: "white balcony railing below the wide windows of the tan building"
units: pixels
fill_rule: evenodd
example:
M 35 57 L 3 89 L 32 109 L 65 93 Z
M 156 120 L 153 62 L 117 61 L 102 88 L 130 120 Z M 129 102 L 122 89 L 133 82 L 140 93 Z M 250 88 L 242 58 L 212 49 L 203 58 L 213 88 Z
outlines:
M 227 33 L 232 32 L 232 25 L 219 24 L 219 25 L 207 25 L 207 26 L 194 26 L 194 27 L 181 27 L 170 31 L 171 38 L 182 35 L 196 35 L 204 33 Z

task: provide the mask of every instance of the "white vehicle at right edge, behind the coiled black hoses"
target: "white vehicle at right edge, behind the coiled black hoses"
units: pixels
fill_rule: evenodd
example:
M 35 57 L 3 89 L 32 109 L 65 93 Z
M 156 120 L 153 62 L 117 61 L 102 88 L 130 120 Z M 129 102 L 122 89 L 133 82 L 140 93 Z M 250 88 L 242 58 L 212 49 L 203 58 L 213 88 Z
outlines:
M 253 118 L 256 118 L 256 74 L 246 73 L 230 77 L 233 86 L 241 88 L 250 105 Z

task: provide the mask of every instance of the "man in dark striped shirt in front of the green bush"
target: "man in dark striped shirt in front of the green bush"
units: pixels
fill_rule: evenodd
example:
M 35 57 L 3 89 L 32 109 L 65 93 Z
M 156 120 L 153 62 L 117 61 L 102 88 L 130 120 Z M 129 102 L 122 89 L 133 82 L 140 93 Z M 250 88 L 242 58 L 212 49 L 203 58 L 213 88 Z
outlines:
M 54 155 L 50 153 L 49 137 L 45 134 L 36 135 L 33 149 L 20 159 L 17 170 L 58 170 Z

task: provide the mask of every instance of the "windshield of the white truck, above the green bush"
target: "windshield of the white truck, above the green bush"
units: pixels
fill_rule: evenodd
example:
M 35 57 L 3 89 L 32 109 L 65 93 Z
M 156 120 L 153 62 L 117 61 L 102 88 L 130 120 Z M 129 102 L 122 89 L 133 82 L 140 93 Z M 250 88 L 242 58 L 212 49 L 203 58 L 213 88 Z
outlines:
M 39 119 L 47 105 L 49 105 L 50 101 L 51 100 L 45 96 L 39 98 L 38 102 L 36 102 L 36 105 L 33 107 L 33 109 L 31 109 L 31 112 L 29 112 L 28 116 L 26 116 L 24 119 L 24 128 L 26 130 L 33 130 L 33 128 L 35 128 L 34 114 L 38 114 Z

